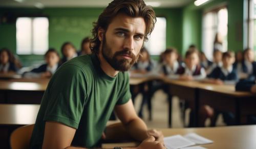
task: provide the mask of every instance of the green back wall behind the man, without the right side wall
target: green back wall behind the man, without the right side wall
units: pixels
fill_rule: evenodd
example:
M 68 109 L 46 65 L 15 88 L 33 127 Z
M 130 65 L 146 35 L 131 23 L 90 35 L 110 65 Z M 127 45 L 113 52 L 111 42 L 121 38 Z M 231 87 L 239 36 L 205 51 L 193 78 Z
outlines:
M 0 16 L 11 13 L 14 16 L 47 16 L 49 18 L 49 47 L 60 52 L 60 46 L 65 41 L 74 43 L 80 49 L 82 38 L 91 35 L 92 22 L 97 20 L 103 8 L 0 8 Z M 167 21 L 166 47 L 182 47 L 182 9 L 155 9 L 156 15 L 165 17 Z M 8 47 L 16 53 L 15 21 L 0 24 L 0 48 Z M 43 56 L 20 55 L 24 65 L 40 63 Z

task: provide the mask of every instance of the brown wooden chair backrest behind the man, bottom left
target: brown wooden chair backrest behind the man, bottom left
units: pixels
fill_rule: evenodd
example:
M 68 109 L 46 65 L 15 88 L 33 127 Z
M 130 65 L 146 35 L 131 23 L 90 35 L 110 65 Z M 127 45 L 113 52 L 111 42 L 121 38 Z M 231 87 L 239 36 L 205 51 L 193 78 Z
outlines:
M 34 125 L 19 127 L 11 134 L 10 143 L 12 149 L 29 148 L 30 138 Z

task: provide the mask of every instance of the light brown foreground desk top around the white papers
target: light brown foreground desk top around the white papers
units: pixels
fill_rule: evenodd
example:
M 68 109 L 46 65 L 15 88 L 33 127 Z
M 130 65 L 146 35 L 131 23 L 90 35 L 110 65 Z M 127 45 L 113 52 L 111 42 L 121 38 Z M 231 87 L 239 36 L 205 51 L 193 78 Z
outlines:
M 197 133 L 205 138 L 213 140 L 212 144 L 201 145 L 209 149 L 253 149 L 256 148 L 256 125 L 212 128 L 189 128 L 189 129 L 159 129 L 164 136 L 185 135 Z

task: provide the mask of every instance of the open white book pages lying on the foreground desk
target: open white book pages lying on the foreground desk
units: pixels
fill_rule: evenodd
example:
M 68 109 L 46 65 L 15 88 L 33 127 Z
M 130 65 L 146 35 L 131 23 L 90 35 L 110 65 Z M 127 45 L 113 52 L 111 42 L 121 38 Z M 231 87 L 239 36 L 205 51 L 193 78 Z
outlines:
M 193 145 L 202 145 L 213 143 L 212 140 L 206 139 L 196 133 L 189 133 L 185 136 L 174 135 L 164 138 L 164 144 L 167 149 L 176 149 L 176 148 L 184 148 L 185 147 L 191 149 L 203 149 L 201 146 L 193 146 Z M 188 147 L 191 146 L 191 147 Z

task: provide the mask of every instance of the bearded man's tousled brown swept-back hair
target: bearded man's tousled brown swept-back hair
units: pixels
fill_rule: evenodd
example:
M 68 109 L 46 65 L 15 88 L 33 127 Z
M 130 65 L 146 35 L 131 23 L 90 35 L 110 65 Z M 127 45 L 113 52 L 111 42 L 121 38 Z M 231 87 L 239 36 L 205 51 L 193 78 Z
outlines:
M 90 47 L 93 53 L 99 52 L 100 40 L 98 38 L 98 29 L 102 28 L 105 31 L 109 24 L 118 13 L 124 13 L 131 17 L 143 17 L 146 23 L 146 31 L 144 40 L 150 35 L 155 27 L 156 15 L 151 6 L 146 6 L 142 0 L 114 0 L 103 12 L 99 15 L 96 22 L 93 22 L 93 38 L 91 39 Z

